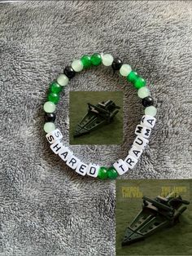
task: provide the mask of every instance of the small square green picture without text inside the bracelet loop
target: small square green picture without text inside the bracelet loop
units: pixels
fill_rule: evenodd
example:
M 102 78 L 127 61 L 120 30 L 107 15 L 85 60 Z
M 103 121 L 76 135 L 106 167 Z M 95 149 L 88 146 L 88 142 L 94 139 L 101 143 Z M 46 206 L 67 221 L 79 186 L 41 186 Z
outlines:
M 123 141 L 122 91 L 70 91 L 70 144 Z

